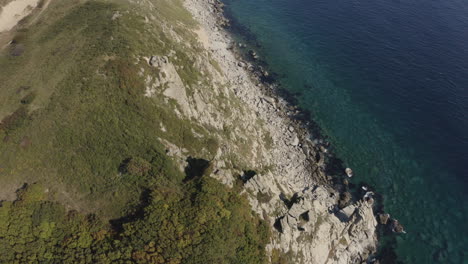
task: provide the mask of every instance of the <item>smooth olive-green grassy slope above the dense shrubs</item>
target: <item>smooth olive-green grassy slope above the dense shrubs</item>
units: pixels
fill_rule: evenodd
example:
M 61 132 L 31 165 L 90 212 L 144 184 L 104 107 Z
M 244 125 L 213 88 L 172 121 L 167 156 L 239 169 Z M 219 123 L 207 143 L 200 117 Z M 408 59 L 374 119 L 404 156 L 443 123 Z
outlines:
M 0 74 L 1 181 L 44 181 L 57 193 L 64 188 L 81 197 L 74 200 L 86 211 L 117 217 L 138 202 L 147 184 L 118 177 L 124 160 L 157 159 L 161 170 L 177 180 L 160 138 L 197 157 L 214 157 L 219 143 L 209 130 L 180 119 L 162 98 L 142 96 L 145 84 L 138 71 L 149 66 L 135 64 L 135 57 L 175 49 L 184 82 L 200 78 L 185 45 L 167 37 L 160 23 L 180 25 L 195 43 L 186 28 L 194 21 L 179 4 L 153 2 L 160 14 L 155 28 L 125 3 L 68 0 L 53 1 L 45 18 L 21 29 L 15 41 L 25 46 L 24 53 L 3 51 L 0 57 L 5 69 Z M 124 15 L 113 20 L 117 11 Z M 145 31 L 148 27 L 152 34 Z M 31 144 L 22 148 L 25 137 Z

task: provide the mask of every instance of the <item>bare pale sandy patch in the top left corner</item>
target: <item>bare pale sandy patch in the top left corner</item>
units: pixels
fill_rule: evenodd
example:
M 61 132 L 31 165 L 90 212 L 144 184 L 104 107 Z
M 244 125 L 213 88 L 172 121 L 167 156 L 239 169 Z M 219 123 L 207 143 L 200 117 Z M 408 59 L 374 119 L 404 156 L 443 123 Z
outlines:
M 0 32 L 16 26 L 18 21 L 31 13 L 38 2 L 39 0 L 16 0 L 4 6 L 0 11 Z

